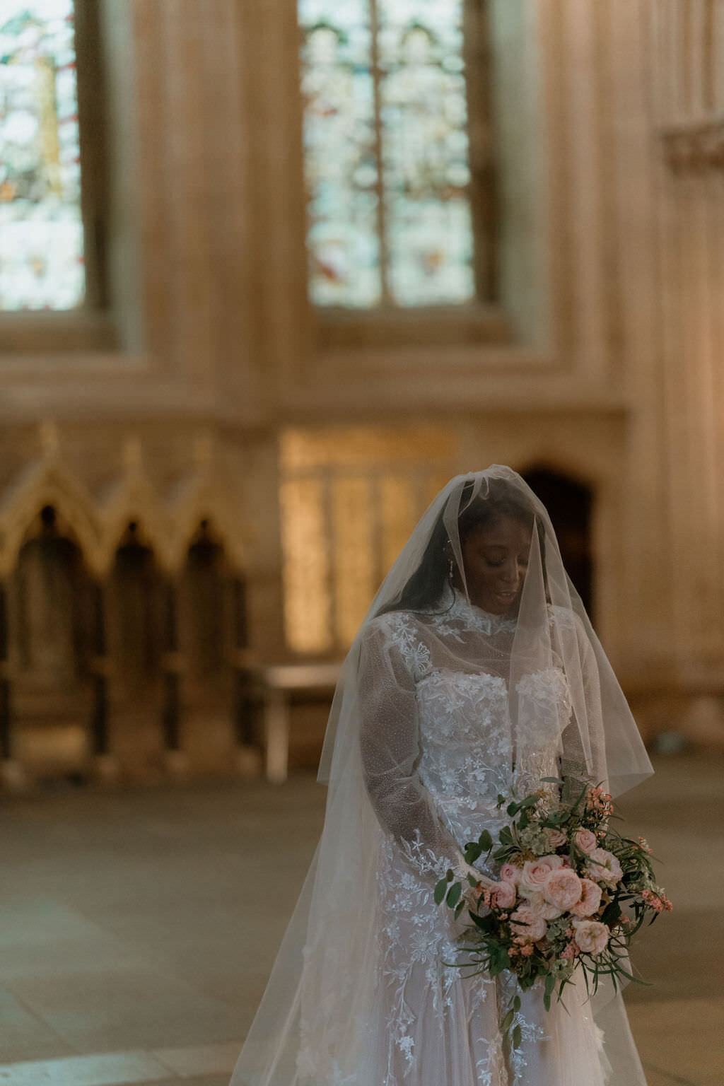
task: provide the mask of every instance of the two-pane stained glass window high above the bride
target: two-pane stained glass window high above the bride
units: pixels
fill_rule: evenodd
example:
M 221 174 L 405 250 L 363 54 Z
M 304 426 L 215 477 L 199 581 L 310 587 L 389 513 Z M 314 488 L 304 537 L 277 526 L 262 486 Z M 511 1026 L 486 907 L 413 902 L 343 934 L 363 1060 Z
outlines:
M 462 0 L 299 0 L 310 296 L 474 296 Z

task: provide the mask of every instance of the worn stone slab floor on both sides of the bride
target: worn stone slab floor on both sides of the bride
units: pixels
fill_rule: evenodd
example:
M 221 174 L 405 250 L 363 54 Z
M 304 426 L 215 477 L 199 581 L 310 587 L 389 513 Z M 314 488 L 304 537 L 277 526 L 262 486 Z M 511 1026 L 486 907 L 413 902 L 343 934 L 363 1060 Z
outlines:
M 649 1086 L 722 1086 L 724 762 L 657 770 L 622 808 L 675 911 L 635 951 L 632 1026 Z M 226 1086 L 323 797 L 297 778 L 1 798 L 0 1086 Z

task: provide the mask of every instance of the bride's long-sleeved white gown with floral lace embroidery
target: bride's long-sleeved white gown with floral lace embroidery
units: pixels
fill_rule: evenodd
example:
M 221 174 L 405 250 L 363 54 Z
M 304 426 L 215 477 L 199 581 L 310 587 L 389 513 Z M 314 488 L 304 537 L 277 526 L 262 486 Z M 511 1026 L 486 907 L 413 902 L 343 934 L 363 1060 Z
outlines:
M 579 636 L 573 618 L 551 609 L 554 643 Z M 393 611 L 376 619 L 363 645 L 363 762 L 384 830 L 377 1019 L 368 1034 L 374 1051 L 367 1053 L 376 1066 L 369 1081 L 379 1086 L 611 1081 L 601 1031 L 580 985 L 569 987 L 566 1007 L 550 1012 L 537 988 L 526 993 L 517 1015 L 523 1041 L 507 1056 L 498 1022 L 510 975 L 470 976 L 446 964 L 456 960 L 461 922 L 434 904 L 434 884 L 460 861 L 467 842 L 482 830 L 495 836 L 505 823 L 498 793 L 524 794 L 561 771 L 583 778 L 567 681 L 555 657 L 518 682 L 511 727 L 506 675 L 513 634 L 513 622 L 456 594 L 441 615 Z M 644 1083 L 627 1037 L 626 1082 Z

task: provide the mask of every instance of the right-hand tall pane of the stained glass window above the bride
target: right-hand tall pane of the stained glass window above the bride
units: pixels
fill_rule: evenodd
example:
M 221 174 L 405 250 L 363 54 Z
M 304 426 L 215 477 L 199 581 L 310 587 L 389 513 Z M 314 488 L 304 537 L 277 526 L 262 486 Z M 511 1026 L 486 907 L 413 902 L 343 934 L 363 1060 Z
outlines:
M 398 305 L 473 296 L 459 0 L 378 0 L 389 283 Z

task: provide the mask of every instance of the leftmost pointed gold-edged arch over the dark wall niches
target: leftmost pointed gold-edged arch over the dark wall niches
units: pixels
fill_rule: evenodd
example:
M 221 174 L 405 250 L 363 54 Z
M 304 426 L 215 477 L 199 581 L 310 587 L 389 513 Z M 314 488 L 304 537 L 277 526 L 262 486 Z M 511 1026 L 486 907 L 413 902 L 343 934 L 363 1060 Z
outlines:
M 88 568 L 102 565 L 101 532 L 93 503 L 86 489 L 60 464 L 40 465 L 11 492 L 0 508 L 4 545 L 0 550 L 0 577 L 17 563 L 21 547 L 33 532 L 40 510 L 55 510 L 64 531 L 80 548 Z

